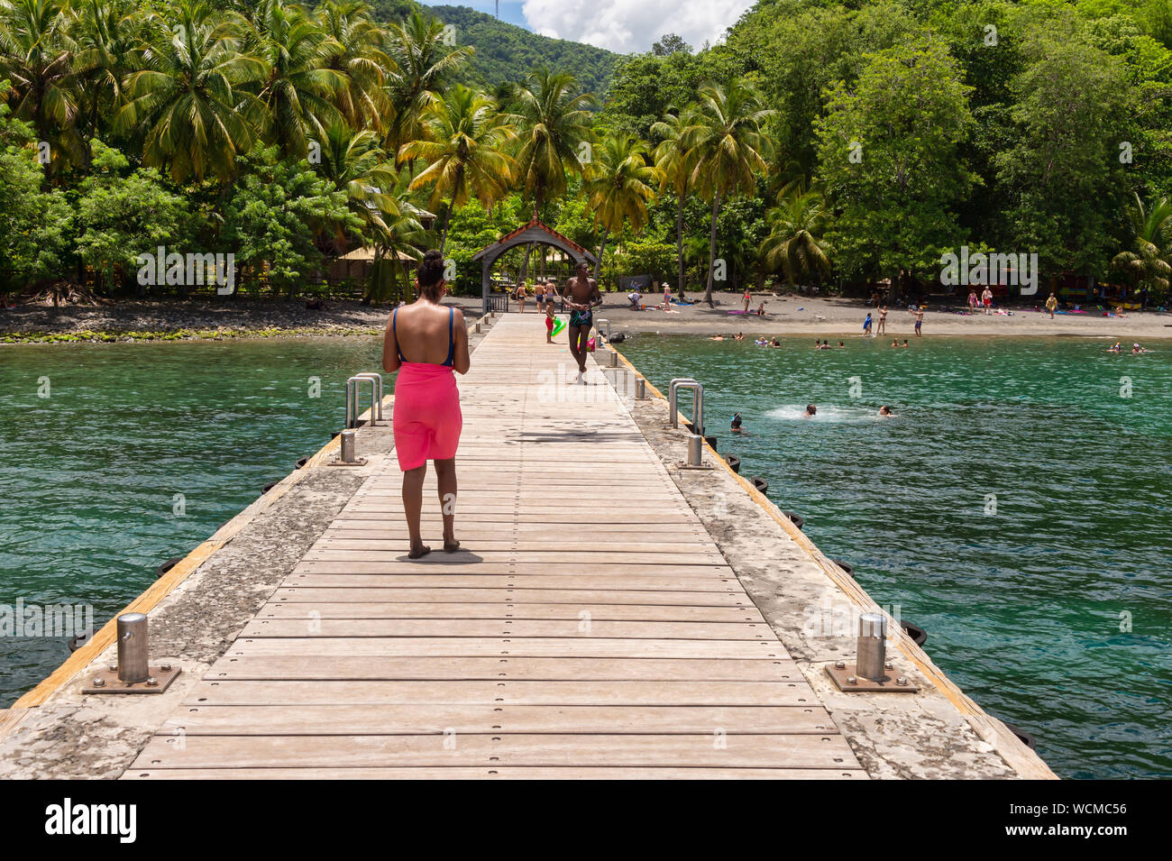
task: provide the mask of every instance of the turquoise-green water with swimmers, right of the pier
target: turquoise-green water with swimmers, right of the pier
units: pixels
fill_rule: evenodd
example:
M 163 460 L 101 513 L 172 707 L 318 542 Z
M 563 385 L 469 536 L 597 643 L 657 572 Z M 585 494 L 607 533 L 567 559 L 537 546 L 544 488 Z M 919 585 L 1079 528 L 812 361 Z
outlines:
M 1172 342 L 890 343 L 622 350 L 656 387 L 700 380 L 718 450 L 1059 775 L 1172 777 Z

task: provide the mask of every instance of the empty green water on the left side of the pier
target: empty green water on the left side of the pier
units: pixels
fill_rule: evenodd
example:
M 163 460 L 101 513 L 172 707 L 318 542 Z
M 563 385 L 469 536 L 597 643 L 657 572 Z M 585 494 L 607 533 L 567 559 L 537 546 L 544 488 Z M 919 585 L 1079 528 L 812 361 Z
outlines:
M 381 350 L 374 337 L 0 347 L 0 607 L 91 604 L 103 624 L 325 445 L 346 422 L 347 377 L 380 370 Z M 68 655 L 62 637 L 0 636 L 0 706 Z

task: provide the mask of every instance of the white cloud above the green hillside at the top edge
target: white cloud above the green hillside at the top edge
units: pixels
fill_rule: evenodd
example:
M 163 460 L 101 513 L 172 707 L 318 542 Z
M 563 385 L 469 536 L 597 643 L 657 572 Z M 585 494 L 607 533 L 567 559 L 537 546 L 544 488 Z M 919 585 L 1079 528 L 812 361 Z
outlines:
M 534 33 L 571 39 L 620 54 L 650 50 L 665 33 L 694 49 L 716 42 L 754 0 L 525 0 L 522 12 Z

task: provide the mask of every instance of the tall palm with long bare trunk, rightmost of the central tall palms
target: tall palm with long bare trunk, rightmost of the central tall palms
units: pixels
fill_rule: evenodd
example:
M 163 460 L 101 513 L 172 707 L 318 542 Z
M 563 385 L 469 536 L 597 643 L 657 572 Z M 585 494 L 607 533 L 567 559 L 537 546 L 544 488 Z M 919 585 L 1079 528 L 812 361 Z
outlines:
M 757 91 L 740 78 L 728 88 L 710 83 L 700 88 L 700 102 L 691 123 L 683 130 L 683 145 L 691 164 L 689 184 L 701 197 L 713 201 L 713 223 L 708 244 L 708 285 L 704 301 L 713 305 L 716 269 L 716 220 L 721 200 L 734 194 L 752 193 L 754 172 L 764 172 L 771 141 L 761 124 L 776 111 L 763 107 Z

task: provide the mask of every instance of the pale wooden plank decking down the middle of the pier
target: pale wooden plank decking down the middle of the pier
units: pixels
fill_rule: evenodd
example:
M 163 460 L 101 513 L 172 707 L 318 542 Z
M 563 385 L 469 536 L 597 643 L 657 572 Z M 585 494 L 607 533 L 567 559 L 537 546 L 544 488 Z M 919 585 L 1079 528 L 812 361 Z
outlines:
M 591 364 L 507 315 L 461 380 L 457 537 L 390 458 L 128 779 L 865 779 Z M 650 518 L 648 532 L 635 524 Z

